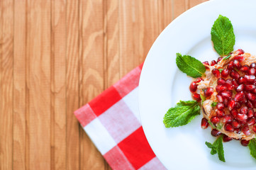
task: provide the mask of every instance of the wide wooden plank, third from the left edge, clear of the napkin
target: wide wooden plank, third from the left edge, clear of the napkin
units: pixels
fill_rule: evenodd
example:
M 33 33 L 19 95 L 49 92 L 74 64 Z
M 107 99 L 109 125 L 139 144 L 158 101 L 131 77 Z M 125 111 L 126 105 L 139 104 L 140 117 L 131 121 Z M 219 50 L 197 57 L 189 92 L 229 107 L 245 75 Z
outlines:
M 27 1 L 29 169 L 50 169 L 50 0 Z

